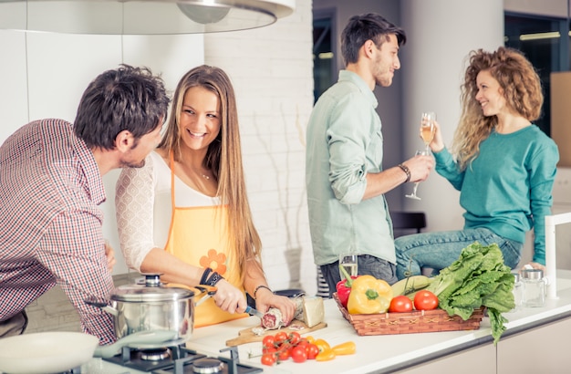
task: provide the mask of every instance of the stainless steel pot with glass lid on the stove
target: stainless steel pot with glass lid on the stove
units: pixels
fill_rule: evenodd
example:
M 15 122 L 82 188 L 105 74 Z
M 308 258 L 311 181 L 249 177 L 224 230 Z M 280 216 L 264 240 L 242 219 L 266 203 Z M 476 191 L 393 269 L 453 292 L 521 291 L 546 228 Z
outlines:
M 215 287 L 194 288 L 203 294 L 196 303 L 194 291 L 162 286 L 160 275 L 145 274 L 142 284 L 117 287 L 109 303 L 86 303 L 113 315 L 118 339 L 140 331 L 172 331 L 174 340 L 186 341 L 192 337 L 194 307 L 216 293 Z

